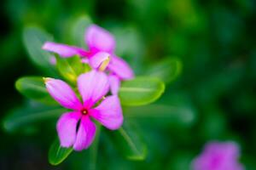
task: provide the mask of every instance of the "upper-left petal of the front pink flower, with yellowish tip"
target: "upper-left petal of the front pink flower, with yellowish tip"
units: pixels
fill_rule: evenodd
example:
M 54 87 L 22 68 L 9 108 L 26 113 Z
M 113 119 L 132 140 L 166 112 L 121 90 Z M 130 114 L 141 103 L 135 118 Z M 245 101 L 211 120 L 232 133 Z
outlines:
M 79 110 L 83 106 L 66 82 L 54 78 L 44 78 L 44 83 L 51 97 L 63 107 Z

